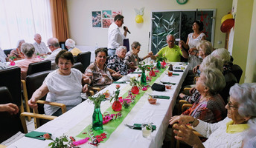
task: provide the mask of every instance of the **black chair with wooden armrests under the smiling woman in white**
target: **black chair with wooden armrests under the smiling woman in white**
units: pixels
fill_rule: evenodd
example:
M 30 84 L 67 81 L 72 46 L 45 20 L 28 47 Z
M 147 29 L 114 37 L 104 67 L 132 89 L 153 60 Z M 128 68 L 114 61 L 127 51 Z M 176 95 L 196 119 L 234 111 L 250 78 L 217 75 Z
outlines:
M 26 82 L 25 82 L 26 87 L 24 89 L 26 100 L 28 100 L 28 98 L 31 98 L 31 96 L 33 95 L 33 92 L 35 92 L 42 85 L 46 76 L 51 72 L 52 72 L 52 70 L 48 70 L 48 71 L 43 71 L 43 72 L 39 72 L 39 73 L 34 73 L 32 75 L 27 76 Z M 45 124 L 48 120 L 57 118 L 56 116 L 43 115 L 43 114 L 45 114 L 44 107 L 43 107 L 44 104 L 50 104 L 53 106 L 60 107 L 62 109 L 63 113 L 66 112 L 65 104 L 48 102 L 48 101 L 45 101 L 45 98 L 46 98 L 46 95 L 37 101 L 38 108 L 33 109 L 33 113 L 22 112 L 22 114 L 21 114 L 22 124 L 24 124 L 23 122 L 25 120 L 23 120 L 23 119 L 25 118 L 25 116 L 34 118 L 35 128 L 38 128 L 42 124 Z M 44 120 L 44 119 L 46 119 L 46 120 Z M 23 127 L 25 128 L 25 126 L 23 126 Z

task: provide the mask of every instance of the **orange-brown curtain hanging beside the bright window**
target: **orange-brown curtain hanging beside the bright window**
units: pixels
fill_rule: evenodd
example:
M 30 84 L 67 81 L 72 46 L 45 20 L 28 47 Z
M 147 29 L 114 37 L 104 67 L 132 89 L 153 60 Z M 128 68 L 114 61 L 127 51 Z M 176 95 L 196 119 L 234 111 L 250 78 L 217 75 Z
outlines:
M 68 13 L 66 0 L 50 0 L 51 1 L 51 22 L 53 27 L 53 35 L 59 41 L 68 39 Z

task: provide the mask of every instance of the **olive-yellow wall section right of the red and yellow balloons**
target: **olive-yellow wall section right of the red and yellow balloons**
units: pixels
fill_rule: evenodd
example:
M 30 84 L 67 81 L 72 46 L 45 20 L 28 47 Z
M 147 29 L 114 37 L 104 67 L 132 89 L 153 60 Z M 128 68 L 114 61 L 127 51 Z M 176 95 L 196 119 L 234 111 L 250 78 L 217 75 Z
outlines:
M 251 31 L 253 1 L 254 0 L 246 0 L 245 2 L 244 0 L 237 0 L 237 4 L 233 4 L 234 6 L 237 6 L 237 12 L 234 22 L 234 41 L 232 56 L 234 57 L 234 64 L 238 64 L 243 70 L 240 84 L 245 81 L 245 74 L 247 71 L 246 62 L 247 55 L 249 53 L 248 48 Z M 251 34 L 251 36 L 255 35 Z M 250 52 L 251 51 L 252 50 L 250 50 Z

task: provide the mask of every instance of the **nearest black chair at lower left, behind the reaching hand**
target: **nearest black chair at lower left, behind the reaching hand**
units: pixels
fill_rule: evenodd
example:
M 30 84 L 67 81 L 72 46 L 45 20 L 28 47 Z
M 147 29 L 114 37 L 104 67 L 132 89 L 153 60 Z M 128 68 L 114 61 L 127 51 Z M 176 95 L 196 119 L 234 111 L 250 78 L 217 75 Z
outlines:
M 7 87 L 0 87 L 0 104 L 14 103 Z M 0 112 L 0 143 L 7 140 L 17 132 L 24 132 L 19 118 L 20 112 L 10 115 L 9 112 Z

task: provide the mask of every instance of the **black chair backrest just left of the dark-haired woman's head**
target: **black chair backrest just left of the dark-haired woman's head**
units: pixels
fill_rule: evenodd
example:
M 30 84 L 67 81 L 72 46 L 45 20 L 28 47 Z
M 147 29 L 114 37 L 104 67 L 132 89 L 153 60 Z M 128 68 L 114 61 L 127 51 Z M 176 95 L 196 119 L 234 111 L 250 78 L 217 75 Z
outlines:
M 36 63 L 31 63 L 28 65 L 28 72 L 27 75 L 31 75 L 33 73 L 39 73 L 42 71 L 51 70 L 51 61 L 39 61 Z

